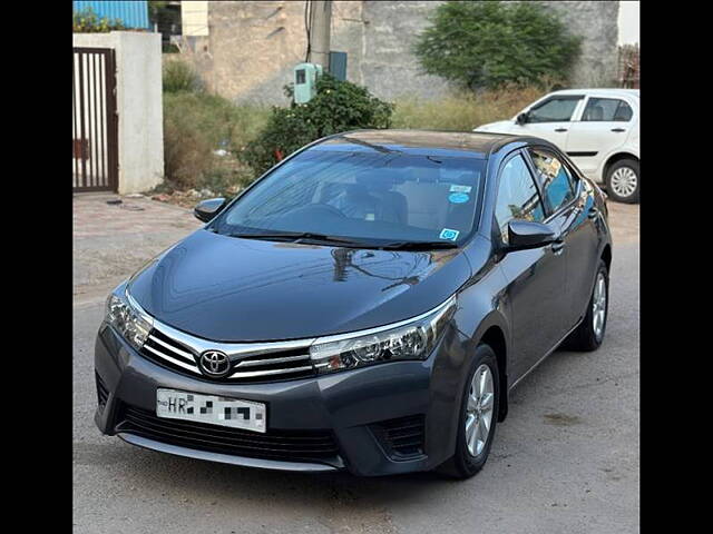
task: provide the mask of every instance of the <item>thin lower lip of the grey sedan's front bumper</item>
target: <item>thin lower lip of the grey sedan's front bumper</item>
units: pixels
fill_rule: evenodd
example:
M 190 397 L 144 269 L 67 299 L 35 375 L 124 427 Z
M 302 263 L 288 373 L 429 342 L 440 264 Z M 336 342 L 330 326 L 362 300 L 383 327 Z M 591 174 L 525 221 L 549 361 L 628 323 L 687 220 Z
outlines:
M 187 458 L 207 459 L 209 462 L 241 465 L 245 467 L 257 467 L 274 471 L 302 471 L 311 473 L 340 471 L 344 467 L 343 465 L 339 467 L 316 462 L 285 462 L 282 459 L 248 458 L 245 456 L 234 456 L 232 454 L 211 453 L 207 451 L 197 451 L 195 448 L 179 447 L 169 443 L 157 442 L 155 439 L 149 439 L 144 436 L 125 432 L 118 432 L 116 435 L 126 443 L 130 443 L 131 445 L 137 445 L 143 448 L 174 454 L 177 456 L 185 456 Z

